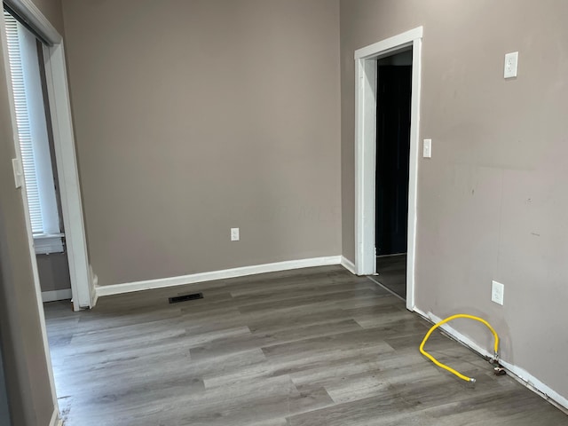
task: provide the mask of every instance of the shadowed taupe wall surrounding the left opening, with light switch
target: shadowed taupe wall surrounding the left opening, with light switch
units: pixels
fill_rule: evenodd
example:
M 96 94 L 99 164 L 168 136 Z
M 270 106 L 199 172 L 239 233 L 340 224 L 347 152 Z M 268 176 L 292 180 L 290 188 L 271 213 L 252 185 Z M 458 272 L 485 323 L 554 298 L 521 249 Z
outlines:
M 57 2 L 38 3 L 48 18 L 61 22 Z M 60 29 L 60 25 L 59 25 Z M 0 336 L 5 381 L 12 422 L 22 426 L 47 425 L 53 413 L 53 395 L 43 347 L 36 287 L 32 272 L 24 203 L 14 188 L 15 156 L 9 98 L 0 47 Z

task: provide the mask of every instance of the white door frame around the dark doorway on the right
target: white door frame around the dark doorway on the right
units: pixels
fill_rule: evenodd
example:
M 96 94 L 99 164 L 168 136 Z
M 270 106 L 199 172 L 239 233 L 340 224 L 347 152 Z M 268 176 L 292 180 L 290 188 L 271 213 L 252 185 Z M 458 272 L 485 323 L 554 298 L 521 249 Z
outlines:
M 376 272 L 376 59 L 389 56 L 408 46 L 413 48 L 406 257 L 406 308 L 409 310 L 414 310 L 422 31 L 422 27 L 414 28 L 355 51 L 355 270 L 358 275 L 370 275 Z

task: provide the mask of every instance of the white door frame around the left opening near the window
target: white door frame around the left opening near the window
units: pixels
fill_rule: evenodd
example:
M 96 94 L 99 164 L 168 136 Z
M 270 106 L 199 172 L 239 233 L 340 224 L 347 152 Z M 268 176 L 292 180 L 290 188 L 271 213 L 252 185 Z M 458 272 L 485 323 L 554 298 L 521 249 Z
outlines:
M 75 137 L 71 118 L 69 92 L 67 88 L 67 68 L 65 52 L 63 50 L 63 38 L 31 0 L 9 0 L 4 3 L 9 4 L 14 12 L 26 18 L 30 25 L 36 28 L 43 36 L 45 41 L 52 44 L 51 46 L 43 45 L 43 59 L 48 102 L 51 112 L 55 160 L 58 170 L 61 214 L 63 216 L 63 225 L 65 226 L 73 308 L 75 311 L 81 308 L 91 308 L 96 298 L 94 286 L 92 285 L 83 223 L 83 205 L 75 154 Z M 4 25 L 2 29 L 4 31 Z M 5 37 L 3 36 L 2 38 L 4 43 L 4 56 L 7 57 Z M 4 59 L 7 60 L 7 58 Z M 11 104 L 11 108 L 12 117 L 15 117 L 13 103 Z M 12 121 L 14 121 L 15 126 L 15 119 L 12 119 Z M 14 127 L 14 132 L 17 132 L 16 129 L 17 128 Z M 18 138 L 15 138 L 14 143 L 16 144 L 17 157 L 20 159 L 20 144 Z M 22 191 L 22 193 L 24 193 L 24 191 Z M 30 241 L 32 241 L 31 243 L 33 244 L 31 228 L 29 233 Z M 32 257 L 33 264 L 36 264 L 35 256 Z M 41 292 L 38 296 L 41 302 Z

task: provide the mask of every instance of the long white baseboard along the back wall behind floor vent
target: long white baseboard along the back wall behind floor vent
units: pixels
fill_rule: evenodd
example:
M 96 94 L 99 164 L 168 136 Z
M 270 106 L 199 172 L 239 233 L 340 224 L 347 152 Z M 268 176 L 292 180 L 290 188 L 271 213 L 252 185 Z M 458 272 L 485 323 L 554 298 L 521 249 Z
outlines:
M 96 288 L 97 296 L 120 295 L 132 291 L 149 290 L 152 288 L 167 288 L 194 284 L 212 280 L 223 280 L 227 278 L 244 277 L 266 272 L 289 271 L 299 268 L 311 268 L 313 266 L 326 266 L 331 264 L 341 264 L 341 256 L 313 257 L 310 259 L 290 260 L 277 262 L 274 264 L 256 264 L 253 266 L 243 266 L 241 268 L 224 269 L 221 271 L 193 273 L 177 277 L 162 278 L 158 280 L 145 280 L 135 282 L 125 282 L 123 284 L 112 284 L 109 286 L 99 286 Z

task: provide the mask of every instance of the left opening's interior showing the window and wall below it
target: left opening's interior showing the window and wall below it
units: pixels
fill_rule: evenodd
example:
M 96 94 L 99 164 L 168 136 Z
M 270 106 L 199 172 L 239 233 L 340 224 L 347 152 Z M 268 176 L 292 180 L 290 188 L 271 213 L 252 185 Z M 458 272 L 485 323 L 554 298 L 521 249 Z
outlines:
M 27 207 L 43 302 L 71 299 L 42 43 L 4 10 Z

